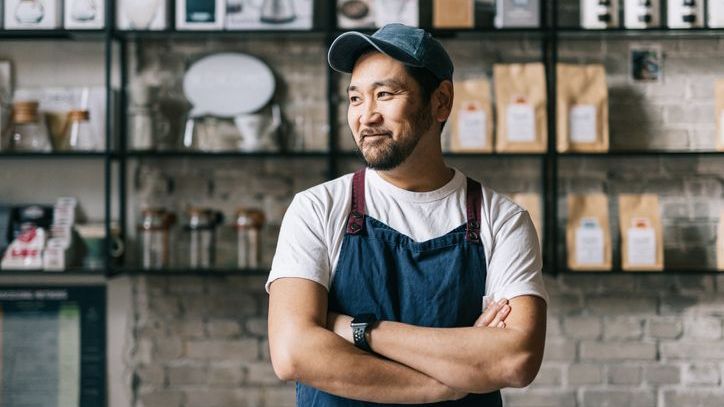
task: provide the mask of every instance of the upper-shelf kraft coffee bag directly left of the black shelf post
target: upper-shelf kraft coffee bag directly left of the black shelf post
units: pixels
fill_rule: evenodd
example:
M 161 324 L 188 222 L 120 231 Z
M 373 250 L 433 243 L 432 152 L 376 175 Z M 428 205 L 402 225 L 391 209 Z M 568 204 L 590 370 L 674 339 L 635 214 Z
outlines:
M 541 63 L 496 64 L 495 150 L 542 153 L 547 150 L 545 67 Z

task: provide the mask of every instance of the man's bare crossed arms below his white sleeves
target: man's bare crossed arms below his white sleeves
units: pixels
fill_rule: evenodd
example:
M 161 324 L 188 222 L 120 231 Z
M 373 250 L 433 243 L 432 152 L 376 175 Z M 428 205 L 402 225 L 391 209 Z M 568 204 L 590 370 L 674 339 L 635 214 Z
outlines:
M 524 387 L 540 368 L 545 307 L 538 297 L 513 298 L 504 325 L 423 328 L 382 321 L 369 341 L 382 358 L 354 347 L 351 317 L 328 314 L 323 286 L 281 278 L 270 288 L 272 365 L 282 380 L 375 403 L 431 403 Z

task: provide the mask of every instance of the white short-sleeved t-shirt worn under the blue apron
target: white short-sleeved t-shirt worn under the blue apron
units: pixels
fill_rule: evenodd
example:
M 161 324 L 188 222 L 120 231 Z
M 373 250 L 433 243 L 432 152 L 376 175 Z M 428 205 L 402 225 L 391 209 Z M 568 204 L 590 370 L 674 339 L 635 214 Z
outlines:
M 270 284 L 282 277 L 305 278 L 330 289 L 352 205 L 352 176 L 344 175 L 294 197 L 282 220 L 267 292 Z M 467 221 L 466 188 L 467 178 L 458 170 L 440 189 L 411 192 L 367 169 L 365 211 L 423 242 Z M 480 237 L 487 262 L 486 295 L 496 300 L 535 295 L 548 302 L 540 244 L 528 212 L 485 186 L 482 190 Z

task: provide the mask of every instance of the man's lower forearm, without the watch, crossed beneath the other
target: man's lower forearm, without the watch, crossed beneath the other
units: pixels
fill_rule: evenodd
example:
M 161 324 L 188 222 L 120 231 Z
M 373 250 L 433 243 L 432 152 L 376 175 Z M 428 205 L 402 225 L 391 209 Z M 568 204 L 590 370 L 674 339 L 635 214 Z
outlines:
M 289 355 L 294 377 L 287 380 L 375 403 L 422 404 L 462 396 L 410 367 L 359 350 L 322 327 L 305 328 L 298 338 Z

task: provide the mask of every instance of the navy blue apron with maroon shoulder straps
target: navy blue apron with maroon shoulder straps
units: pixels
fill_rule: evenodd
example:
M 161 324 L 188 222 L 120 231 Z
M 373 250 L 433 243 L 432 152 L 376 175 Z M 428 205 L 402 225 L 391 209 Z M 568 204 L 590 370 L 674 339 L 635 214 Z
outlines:
M 423 327 L 470 327 L 485 294 L 485 252 L 480 241 L 481 186 L 468 178 L 465 224 L 444 236 L 415 242 L 365 215 L 365 170 L 355 172 L 352 207 L 329 292 L 329 310 Z M 351 328 L 350 328 L 351 329 Z M 297 383 L 298 407 L 364 407 Z M 498 407 L 500 392 L 425 406 Z M 406 404 L 405 406 L 411 406 Z

